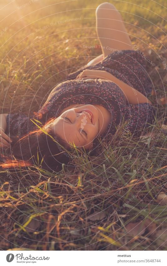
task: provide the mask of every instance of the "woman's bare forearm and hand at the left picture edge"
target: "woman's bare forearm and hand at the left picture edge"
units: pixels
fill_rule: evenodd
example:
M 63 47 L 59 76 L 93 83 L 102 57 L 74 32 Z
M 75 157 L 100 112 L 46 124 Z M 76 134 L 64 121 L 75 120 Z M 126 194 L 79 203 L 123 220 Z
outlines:
M 9 147 L 9 142 L 12 141 L 8 135 L 5 134 L 6 130 L 6 117 L 8 114 L 0 114 L 0 146 Z

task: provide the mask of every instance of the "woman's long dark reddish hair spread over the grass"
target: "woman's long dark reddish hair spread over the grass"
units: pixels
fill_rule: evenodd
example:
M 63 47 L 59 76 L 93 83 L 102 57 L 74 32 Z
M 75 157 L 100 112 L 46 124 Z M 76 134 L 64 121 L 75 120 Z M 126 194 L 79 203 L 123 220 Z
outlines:
M 71 159 L 71 147 L 59 135 L 53 134 L 50 124 L 54 120 L 55 118 L 52 118 L 44 124 L 45 132 L 41 130 L 44 126 L 36 126 L 22 138 L 11 137 L 11 147 L 5 152 L 1 150 L 0 168 L 40 165 L 47 170 L 60 170 L 63 163 L 67 165 Z

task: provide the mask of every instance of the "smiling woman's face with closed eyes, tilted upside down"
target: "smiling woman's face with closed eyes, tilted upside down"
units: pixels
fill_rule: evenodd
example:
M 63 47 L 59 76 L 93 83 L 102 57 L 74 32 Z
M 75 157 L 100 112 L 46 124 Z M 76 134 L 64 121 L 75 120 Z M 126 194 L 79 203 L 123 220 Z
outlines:
M 65 142 L 91 149 L 99 133 L 99 111 L 91 104 L 76 106 L 57 117 L 51 128 Z

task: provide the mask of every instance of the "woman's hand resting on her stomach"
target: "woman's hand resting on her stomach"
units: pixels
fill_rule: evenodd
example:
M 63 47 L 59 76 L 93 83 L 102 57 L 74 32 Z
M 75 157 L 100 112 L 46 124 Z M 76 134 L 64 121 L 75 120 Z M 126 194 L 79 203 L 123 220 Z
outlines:
M 109 73 L 104 70 L 83 70 L 77 77 L 78 79 L 106 79 L 108 80 Z

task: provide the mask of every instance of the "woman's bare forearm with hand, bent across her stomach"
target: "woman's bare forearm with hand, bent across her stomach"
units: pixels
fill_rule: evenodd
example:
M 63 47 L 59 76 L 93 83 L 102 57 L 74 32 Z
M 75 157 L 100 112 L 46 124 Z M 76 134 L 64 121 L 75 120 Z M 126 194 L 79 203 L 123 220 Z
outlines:
M 113 76 L 107 71 L 86 69 L 76 77 L 76 79 L 89 79 L 89 78 L 100 78 L 100 79 L 105 79 L 105 80 L 114 82 L 123 91 L 126 99 L 128 100 L 130 104 L 138 104 L 138 103 L 147 102 L 152 105 L 152 102 L 150 102 L 150 100 L 147 97 L 145 97 L 141 92 L 132 88 L 128 84 L 124 83 L 123 81 L 117 79 L 115 76 Z

